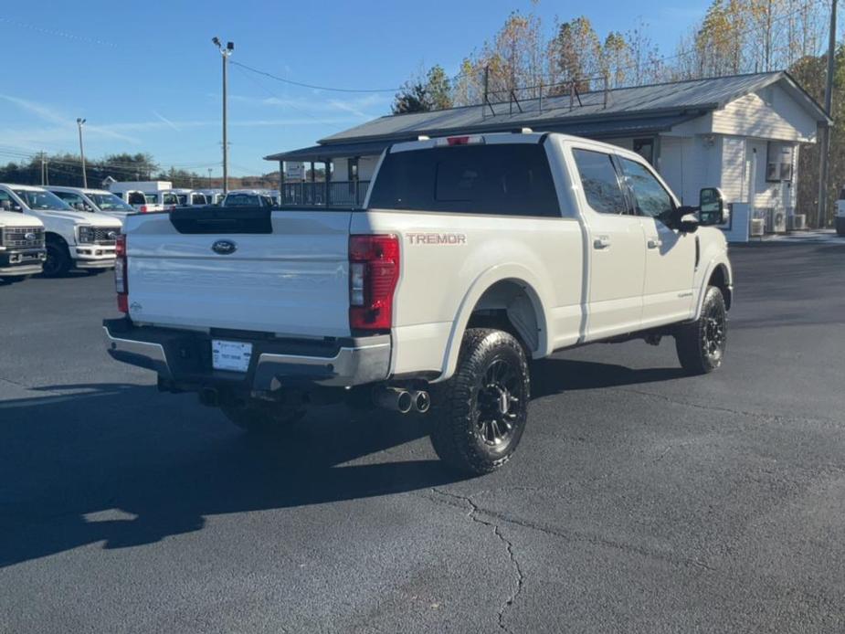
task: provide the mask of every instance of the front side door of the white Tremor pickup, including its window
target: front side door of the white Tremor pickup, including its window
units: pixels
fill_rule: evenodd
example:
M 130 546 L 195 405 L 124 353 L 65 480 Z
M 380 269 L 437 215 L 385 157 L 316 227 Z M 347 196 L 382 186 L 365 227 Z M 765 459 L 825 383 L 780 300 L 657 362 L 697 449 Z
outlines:
M 688 319 L 692 316 L 696 238 L 664 223 L 675 204 L 649 167 L 622 157 L 619 163 L 646 238 L 642 327 Z

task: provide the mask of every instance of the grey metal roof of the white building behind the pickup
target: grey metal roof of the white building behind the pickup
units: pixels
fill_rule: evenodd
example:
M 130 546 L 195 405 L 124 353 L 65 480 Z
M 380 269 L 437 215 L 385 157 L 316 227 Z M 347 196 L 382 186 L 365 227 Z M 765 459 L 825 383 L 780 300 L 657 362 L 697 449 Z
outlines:
M 380 117 L 328 136 L 312 148 L 267 156 L 268 160 L 297 160 L 291 154 L 323 160 L 380 153 L 389 143 L 416 139 L 420 134 L 443 136 L 454 132 L 498 132 L 529 127 L 543 132 L 566 132 L 591 137 L 612 137 L 623 132 L 660 132 L 708 111 L 724 107 L 755 90 L 778 83 L 819 123 L 832 123 L 819 104 L 786 71 L 690 79 L 649 86 L 595 90 L 579 95 L 574 103 L 568 94 L 516 103 L 465 106 L 449 110 L 413 112 Z M 607 97 L 607 103 L 606 103 Z M 571 105 L 572 104 L 572 105 Z M 492 112 L 491 112 L 492 108 Z M 520 111 L 520 108 L 522 111 Z M 674 118 L 673 121 L 671 119 Z M 657 126 L 657 127 L 655 127 Z M 376 144 L 383 143 L 381 147 Z M 347 147 L 342 147 L 347 146 Z M 331 153 L 331 154 L 330 154 Z M 320 158 L 316 158 L 319 155 Z M 288 158 L 290 156 L 290 158 Z M 315 158 L 312 158 L 315 157 Z

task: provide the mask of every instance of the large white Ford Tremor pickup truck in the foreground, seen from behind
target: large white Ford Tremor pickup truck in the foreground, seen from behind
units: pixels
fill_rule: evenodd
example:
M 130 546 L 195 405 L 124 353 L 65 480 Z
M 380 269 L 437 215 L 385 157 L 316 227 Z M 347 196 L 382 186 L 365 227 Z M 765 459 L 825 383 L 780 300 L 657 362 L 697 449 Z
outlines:
M 428 410 L 441 459 L 491 471 L 523 434 L 529 360 L 674 337 L 722 364 L 723 201 L 680 206 L 636 153 L 555 133 L 397 143 L 362 209 L 177 209 L 118 243 L 115 359 L 267 431 L 348 399 Z

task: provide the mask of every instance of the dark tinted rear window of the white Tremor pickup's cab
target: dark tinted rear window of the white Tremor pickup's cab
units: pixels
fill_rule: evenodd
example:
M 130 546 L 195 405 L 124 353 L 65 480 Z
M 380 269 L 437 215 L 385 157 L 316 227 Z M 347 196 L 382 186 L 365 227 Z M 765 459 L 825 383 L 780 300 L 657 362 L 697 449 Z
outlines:
M 544 147 L 533 143 L 387 153 L 370 207 L 560 217 Z

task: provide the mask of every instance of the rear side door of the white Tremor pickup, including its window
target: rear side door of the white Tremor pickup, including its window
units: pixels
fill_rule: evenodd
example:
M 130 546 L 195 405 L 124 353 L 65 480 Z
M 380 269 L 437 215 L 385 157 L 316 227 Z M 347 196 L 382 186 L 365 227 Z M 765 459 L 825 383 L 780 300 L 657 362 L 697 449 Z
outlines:
M 586 340 L 639 330 L 645 246 L 610 154 L 573 148 L 588 238 Z M 576 181 L 577 182 L 577 181 Z

